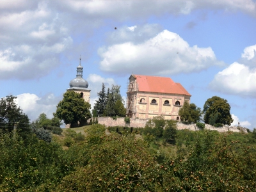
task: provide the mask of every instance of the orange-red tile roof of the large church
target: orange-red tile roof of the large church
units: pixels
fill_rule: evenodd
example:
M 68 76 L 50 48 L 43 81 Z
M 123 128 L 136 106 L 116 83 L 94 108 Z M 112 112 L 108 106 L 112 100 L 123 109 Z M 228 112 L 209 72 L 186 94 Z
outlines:
M 136 78 L 140 92 L 173 93 L 191 96 L 180 83 L 175 83 L 170 77 L 132 76 Z

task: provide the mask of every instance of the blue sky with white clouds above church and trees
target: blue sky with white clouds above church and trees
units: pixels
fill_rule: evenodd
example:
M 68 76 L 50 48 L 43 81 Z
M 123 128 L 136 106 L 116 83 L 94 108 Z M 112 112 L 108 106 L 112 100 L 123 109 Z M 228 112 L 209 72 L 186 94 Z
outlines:
M 102 83 L 125 99 L 131 74 L 163 76 L 256 127 L 255 0 L 0 1 L 0 98 L 31 121 L 52 118 L 80 57 L 92 107 Z

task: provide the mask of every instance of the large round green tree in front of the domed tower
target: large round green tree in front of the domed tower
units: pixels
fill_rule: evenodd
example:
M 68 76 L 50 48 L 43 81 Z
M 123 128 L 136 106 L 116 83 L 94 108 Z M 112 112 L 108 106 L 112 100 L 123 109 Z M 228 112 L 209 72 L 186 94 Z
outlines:
M 79 93 L 68 91 L 64 93 L 63 100 L 58 103 L 56 117 L 64 120 L 65 124 L 81 124 L 91 117 L 91 105 L 84 102 Z

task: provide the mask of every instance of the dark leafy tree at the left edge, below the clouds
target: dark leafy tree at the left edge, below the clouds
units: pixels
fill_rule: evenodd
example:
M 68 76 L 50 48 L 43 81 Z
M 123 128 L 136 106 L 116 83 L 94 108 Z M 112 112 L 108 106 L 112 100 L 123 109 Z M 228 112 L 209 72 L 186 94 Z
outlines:
M 22 109 L 17 106 L 13 95 L 6 96 L 0 100 L 0 129 L 10 132 L 15 124 L 17 129 L 29 131 L 28 115 L 23 113 Z

